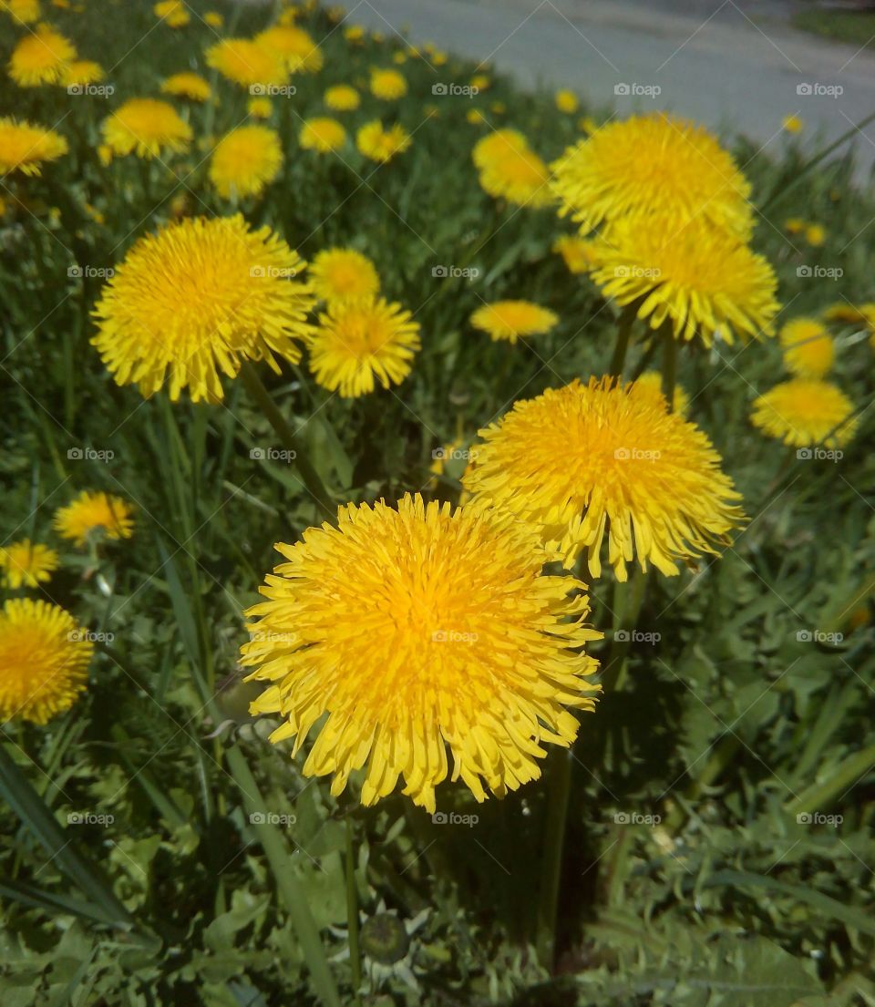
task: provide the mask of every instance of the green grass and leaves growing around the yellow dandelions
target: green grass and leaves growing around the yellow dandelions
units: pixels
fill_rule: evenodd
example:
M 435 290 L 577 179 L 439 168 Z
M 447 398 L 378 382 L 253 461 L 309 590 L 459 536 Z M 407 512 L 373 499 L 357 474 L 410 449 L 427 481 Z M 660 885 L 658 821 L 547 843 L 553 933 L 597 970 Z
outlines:
M 478 820 L 439 826 L 400 793 L 360 808 L 360 779 L 331 797 L 327 780 L 302 776 L 303 753 L 292 759 L 288 742 L 271 746 L 271 725 L 248 717 L 258 690 L 237 664 L 248 638 L 243 611 L 275 562 L 274 543 L 295 542 L 322 516 L 293 466 L 252 456 L 280 445 L 243 381 L 225 381 L 224 407 L 192 406 L 184 395 L 170 406 L 163 393 L 144 402 L 116 385 L 90 344 L 102 280 L 67 276 L 75 264 L 117 266 L 180 211 L 180 199 L 193 212 L 233 208 L 206 183 L 199 148 L 171 170 L 135 159 L 104 168 L 95 153 L 112 108 L 156 95 L 165 73 L 202 71 L 213 36 L 196 22 L 149 32 L 148 5 L 87 4 L 85 14 L 45 6 L 83 57 L 121 61 L 109 101 L 22 92 L 0 77 L 3 108 L 58 123 L 70 143 L 41 177 L 4 178 L 0 189 L 0 527 L 4 543 L 27 535 L 57 548 L 61 568 L 44 596 L 114 638 L 98 649 L 89 690 L 70 711 L 42 728 L 3 728 L 4 1007 L 311 1005 L 331 1002 L 334 986 L 353 1004 L 355 903 L 369 1007 L 871 1003 L 875 430 L 866 333 L 834 329 L 832 379 L 861 411 L 838 463 L 797 459 L 751 426 L 756 395 L 785 378 L 775 339 L 679 352 L 691 419 L 720 451 L 751 520 L 719 559 L 675 578 L 651 574 L 637 619 L 647 639 L 631 643 L 622 688 L 583 717 L 559 865 L 557 960 L 545 968 L 533 943 L 545 823 L 557 818 L 548 784 L 561 780 L 562 753 L 546 760 L 545 781 L 503 801 L 476 805 L 461 785 L 443 784 L 439 809 Z M 193 6 L 229 18 L 237 9 Z M 236 30 L 260 29 L 269 13 L 247 10 Z M 5 65 L 21 31 L 3 23 Z M 337 502 L 423 487 L 456 501 L 463 463 L 429 487 L 433 450 L 474 442 L 515 400 L 605 373 L 619 318 L 552 252 L 573 233 L 567 220 L 481 190 L 471 148 L 488 127 L 466 113 L 478 108 L 492 127 L 522 130 L 548 161 L 579 137 L 578 117 L 500 77 L 473 101 L 435 97 L 436 81 L 466 83 L 475 71 L 452 55 L 437 75 L 409 59 L 409 95 L 378 103 L 368 75 L 394 65 L 398 39 L 349 45 L 320 11 L 301 23 L 323 41 L 325 66 L 296 79 L 293 103 L 275 100 L 285 167 L 263 199 L 241 208 L 308 260 L 335 244 L 371 256 L 386 295 L 415 311 L 423 348 L 404 383 L 362 400 L 329 396 L 306 359 L 278 376 L 258 373 Z M 342 161 L 299 148 L 302 117 L 324 114 L 322 93 L 340 82 L 363 95 L 341 117 L 350 134 L 378 116 L 397 119 L 414 134 L 406 154 L 375 170 L 351 144 Z M 216 88 L 218 106 L 186 111 L 198 138 L 245 118 L 247 96 Z M 753 245 L 778 275 L 779 322 L 842 299 L 875 300 L 868 232 L 860 237 L 875 201 L 854 188 L 850 159 L 807 170 L 815 151 L 794 145 L 779 160 L 754 156 L 743 139 L 733 149 L 764 207 Z M 826 244 L 788 236 L 783 225 L 794 217 L 824 225 Z M 444 279 L 438 266 L 478 273 Z M 800 267 L 842 275 L 812 279 Z M 544 304 L 560 323 L 515 346 L 492 343 L 468 319 L 503 297 Z M 627 375 L 647 348 L 637 324 Z M 84 447 L 113 454 L 68 455 Z M 87 556 L 56 537 L 55 509 L 86 488 L 134 503 L 129 542 Z M 610 635 L 609 571 L 591 590 L 594 621 Z M 806 636 L 815 630 L 834 635 Z M 593 653 L 604 661 L 609 645 Z M 266 813 L 282 824 L 252 818 Z M 68 824 L 84 814 L 103 819 Z M 405 923 L 410 947 L 379 969 L 373 933 L 385 912 Z

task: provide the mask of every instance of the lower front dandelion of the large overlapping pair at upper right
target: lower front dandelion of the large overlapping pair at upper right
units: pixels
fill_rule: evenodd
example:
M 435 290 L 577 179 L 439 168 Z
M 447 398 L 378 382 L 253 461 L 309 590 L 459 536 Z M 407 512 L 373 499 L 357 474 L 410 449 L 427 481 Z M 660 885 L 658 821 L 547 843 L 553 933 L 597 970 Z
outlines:
M 697 333 L 711 345 L 770 334 L 778 309 L 771 266 L 730 232 L 699 217 L 678 227 L 657 214 L 624 217 L 593 243 L 590 271 L 617 304 L 640 300 L 639 318 L 671 324 L 675 337 Z

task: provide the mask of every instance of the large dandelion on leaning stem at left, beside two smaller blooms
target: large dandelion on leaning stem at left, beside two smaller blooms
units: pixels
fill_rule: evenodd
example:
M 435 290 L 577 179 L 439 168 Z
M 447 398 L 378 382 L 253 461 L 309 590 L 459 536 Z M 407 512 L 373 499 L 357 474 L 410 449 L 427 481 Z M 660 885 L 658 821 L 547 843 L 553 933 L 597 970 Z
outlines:
M 273 354 L 296 362 L 295 339 L 310 331 L 309 286 L 291 279 L 305 263 L 267 227 L 241 214 L 184 219 L 140 239 L 104 288 L 92 339 L 120 385 L 149 397 L 169 372 L 174 402 L 218 402 L 218 372 L 237 376 L 243 359 Z

